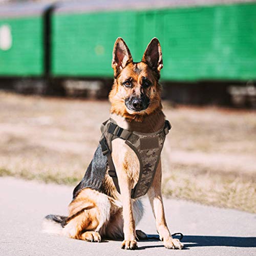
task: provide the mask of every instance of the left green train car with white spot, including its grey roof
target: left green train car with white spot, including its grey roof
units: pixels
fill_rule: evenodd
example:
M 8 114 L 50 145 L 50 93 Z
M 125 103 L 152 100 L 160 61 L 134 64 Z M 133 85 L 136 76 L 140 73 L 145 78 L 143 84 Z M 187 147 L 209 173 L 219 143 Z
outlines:
M 0 8 L 0 76 L 45 74 L 46 4 L 9 4 Z

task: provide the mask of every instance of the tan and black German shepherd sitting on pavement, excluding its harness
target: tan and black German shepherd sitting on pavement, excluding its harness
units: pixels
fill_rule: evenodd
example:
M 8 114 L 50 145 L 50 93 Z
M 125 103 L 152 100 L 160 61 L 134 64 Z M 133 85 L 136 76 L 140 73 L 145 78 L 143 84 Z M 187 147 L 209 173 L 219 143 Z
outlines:
M 120 127 L 129 131 L 154 133 L 162 129 L 165 116 L 162 112 L 161 86 L 158 81 L 163 61 L 158 39 L 153 38 L 142 60 L 134 62 L 124 40 L 117 38 L 112 68 L 114 84 L 109 95 L 111 118 Z M 112 142 L 112 159 L 120 194 L 106 172 L 108 162 L 103 158 L 99 146 L 87 172 L 93 172 L 97 166 L 104 169 L 100 189 L 89 188 L 86 185 L 88 180 L 83 179 L 74 190 L 74 197 L 69 205 L 69 216 L 47 216 L 43 225 L 45 231 L 90 242 L 100 242 L 102 237 L 122 238 L 122 249 L 138 248 L 136 239 L 146 238 L 144 232 L 135 229 L 142 218 L 142 203 L 140 199 L 131 198 L 131 189 L 139 179 L 139 160 L 132 148 L 118 138 Z M 160 160 L 147 192 L 156 219 L 157 231 L 166 248 L 182 249 L 183 244 L 172 237 L 166 225 L 161 176 Z M 97 183 L 94 176 L 91 177 L 92 182 Z

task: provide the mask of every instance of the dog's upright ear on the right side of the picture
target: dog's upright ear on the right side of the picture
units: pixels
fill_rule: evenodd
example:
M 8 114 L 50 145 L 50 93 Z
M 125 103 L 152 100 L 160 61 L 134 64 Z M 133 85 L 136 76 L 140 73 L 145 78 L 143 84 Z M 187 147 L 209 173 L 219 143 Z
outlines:
M 142 61 L 147 63 L 154 71 L 160 72 L 163 68 L 162 50 L 159 40 L 154 37 L 148 44 Z

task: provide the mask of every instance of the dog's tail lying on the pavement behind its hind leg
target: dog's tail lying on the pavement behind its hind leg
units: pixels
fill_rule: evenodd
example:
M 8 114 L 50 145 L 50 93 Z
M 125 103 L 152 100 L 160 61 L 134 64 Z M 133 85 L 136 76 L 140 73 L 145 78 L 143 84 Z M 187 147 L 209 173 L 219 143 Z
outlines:
M 42 232 L 61 234 L 67 217 L 60 215 L 47 215 L 42 222 Z

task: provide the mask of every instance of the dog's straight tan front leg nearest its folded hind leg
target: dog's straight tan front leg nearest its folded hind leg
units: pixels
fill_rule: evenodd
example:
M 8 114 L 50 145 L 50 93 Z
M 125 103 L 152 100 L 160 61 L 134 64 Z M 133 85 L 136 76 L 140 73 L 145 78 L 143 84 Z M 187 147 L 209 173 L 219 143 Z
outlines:
M 127 166 L 124 166 L 127 145 L 124 145 L 123 141 L 118 141 L 118 139 L 116 139 L 112 142 L 112 146 L 112 159 L 116 168 L 123 206 L 124 240 L 122 242 L 121 248 L 135 250 L 138 248 L 138 246 L 136 242 L 135 221 L 133 216 L 133 205 L 131 199 L 132 184 L 129 176 L 127 175 Z M 118 152 L 118 154 L 115 154 L 115 152 Z

